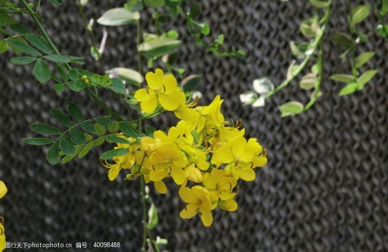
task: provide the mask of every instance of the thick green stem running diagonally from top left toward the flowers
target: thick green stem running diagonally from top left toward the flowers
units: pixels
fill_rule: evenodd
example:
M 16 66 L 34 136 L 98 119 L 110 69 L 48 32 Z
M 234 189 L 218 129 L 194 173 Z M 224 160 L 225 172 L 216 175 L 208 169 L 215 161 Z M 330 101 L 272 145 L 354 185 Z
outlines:
M 28 5 L 26 0 L 20 0 L 23 6 L 26 8 L 27 13 L 31 16 L 32 20 L 38 27 L 39 31 L 42 33 L 44 39 L 46 42 L 49 44 L 50 48 L 56 53 L 56 54 L 61 54 L 58 50 L 58 48 L 55 46 L 55 44 L 51 41 L 49 35 L 47 34 L 46 30 L 43 28 L 42 24 L 39 22 L 38 18 L 36 17 L 34 11 L 31 9 L 31 7 Z M 71 67 L 66 64 L 67 70 L 70 70 Z M 120 120 L 120 121 L 125 121 L 120 115 L 115 113 L 111 108 L 109 108 L 102 100 L 100 100 L 95 93 L 93 93 L 89 88 L 85 89 L 86 92 L 99 104 L 105 111 L 107 111 L 109 114 L 111 114 L 114 118 Z

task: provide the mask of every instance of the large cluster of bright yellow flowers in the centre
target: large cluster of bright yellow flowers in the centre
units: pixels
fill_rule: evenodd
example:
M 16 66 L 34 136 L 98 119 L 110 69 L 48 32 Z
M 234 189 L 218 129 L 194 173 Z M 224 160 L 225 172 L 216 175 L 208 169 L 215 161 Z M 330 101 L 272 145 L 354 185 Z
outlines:
M 164 183 L 171 177 L 180 185 L 179 195 L 187 205 L 180 212 L 190 219 L 199 213 L 205 226 L 212 223 L 211 210 L 221 208 L 235 211 L 238 193 L 237 180 L 255 179 L 255 167 L 267 163 L 266 150 L 256 138 L 246 140 L 242 123 L 229 126 L 221 113 L 217 95 L 208 106 L 196 106 L 197 101 L 186 103 L 173 75 L 164 75 L 161 69 L 146 74 L 147 88 L 139 89 L 135 99 L 146 113 L 155 110 L 173 111 L 179 120 L 167 133 L 160 130 L 151 135 L 126 138 L 129 152 L 104 163 L 109 178 L 115 179 L 121 169 L 129 169 L 128 179 L 144 176 L 159 193 L 166 193 Z

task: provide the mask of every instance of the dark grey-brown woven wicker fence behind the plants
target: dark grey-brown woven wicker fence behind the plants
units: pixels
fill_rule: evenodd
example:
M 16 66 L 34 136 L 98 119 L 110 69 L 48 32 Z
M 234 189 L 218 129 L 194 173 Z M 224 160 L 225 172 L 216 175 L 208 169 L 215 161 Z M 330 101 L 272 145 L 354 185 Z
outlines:
M 90 1 L 88 18 L 124 1 Z M 242 106 L 238 94 L 251 89 L 257 77 L 269 76 L 275 83 L 286 75 L 291 63 L 289 42 L 302 39 L 297 31 L 311 9 L 304 0 L 203 0 L 202 18 L 213 33 L 225 33 L 226 45 L 247 51 L 247 62 L 222 59 L 195 46 L 178 18 L 183 38 L 179 66 L 187 74 L 203 74 L 203 103 L 216 94 L 225 99 L 224 113 L 243 119 L 247 133 L 267 148 L 269 163 L 257 170 L 254 182 L 240 183 L 236 212 L 216 211 L 210 228 L 198 219 L 182 220 L 183 207 L 177 187 L 166 195 L 154 195 L 161 219 L 155 234 L 167 238 L 170 251 L 388 251 L 388 61 L 387 41 L 372 30 L 374 16 L 361 24 L 369 31 L 370 43 L 359 51 L 375 50 L 367 68 L 379 73 L 365 89 L 338 97 L 341 86 L 323 80 L 323 97 L 302 115 L 281 119 L 277 106 L 291 100 L 306 103 L 308 94 L 297 82 L 271 98 L 264 108 Z M 367 1 L 366 1 L 367 2 Z M 336 0 L 329 32 L 346 30 L 344 0 Z M 370 1 L 371 4 L 372 1 Z M 42 6 L 44 24 L 64 54 L 88 55 L 89 46 L 75 1 L 60 8 Z M 28 21 L 27 21 L 28 20 Z M 145 31 L 153 32 L 150 13 L 143 16 Z M 25 24 L 29 19 L 26 16 Z M 33 25 L 31 26 L 33 27 Z M 101 37 L 101 26 L 96 26 Z M 104 63 L 113 67 L 136 67 L 135 27 L 109 28 Z M 324 43 L 324 72 L 350 71 L 339 60 L 340 48 Z M 20 139 L 32 136 L 28 126 L 35 121 L 55 124 L 52 107 L 65 108 L 68 101 L 84 106 L 84 114 L 103 112 L 85 93 L 55 93 L 32 77 L 29 66 L 10 63 L 0 56 L 0 178 L 9 187 L 1 200 L 9 241 L 13 242 L 120 242 L 119 249 L 68 249 L 63 251 L 139 251 L 141 203 L 139 182 L 110 182 L 107 170 L 98 164 L 104 149 L 86 158 L 51 166 L 47 149 L 28 146 Z M 94 61 L 85 66 L 98 71 Z M 147 69 L 144 69 L 146 71 Z M 109 94 L 103 99 L 125 113 Z M 173 117 L 152 120 L 158 128 L 173 125 Z M 103 148 L 111 148 L 105 145 Z M 12 251 L 12 249 L 10 250 Z M 35 249 L 32 251 L 47 251 Z M 55 251 L 55 250 L 52 250 Z

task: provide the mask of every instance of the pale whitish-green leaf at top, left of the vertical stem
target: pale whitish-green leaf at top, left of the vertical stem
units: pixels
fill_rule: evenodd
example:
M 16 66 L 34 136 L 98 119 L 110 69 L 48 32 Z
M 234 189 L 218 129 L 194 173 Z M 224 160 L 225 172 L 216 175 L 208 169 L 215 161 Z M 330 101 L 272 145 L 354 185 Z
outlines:
M 139 18 L 138 12 L 129 12 L 125 8 L 114 8 L 98 18 L 97 23 L 105 26 L 119 26 L 136 23 Z

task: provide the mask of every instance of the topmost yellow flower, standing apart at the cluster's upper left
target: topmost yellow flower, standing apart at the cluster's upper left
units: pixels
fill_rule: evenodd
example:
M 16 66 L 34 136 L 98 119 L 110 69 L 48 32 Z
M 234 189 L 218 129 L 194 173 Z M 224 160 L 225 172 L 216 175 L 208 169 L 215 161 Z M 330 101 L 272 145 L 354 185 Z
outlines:
M 147 88 L 138 89 L 135 93 L 135 99 L 144 112 L 152 113 L 158 104 L 165 110 L 174 111 L 186 102 L 186 96 L 177 87 L 177 80 L 172 74 L 164 76 L 162 69 L 158 68 L 155 73 L 146 74 L 146 81 Z

